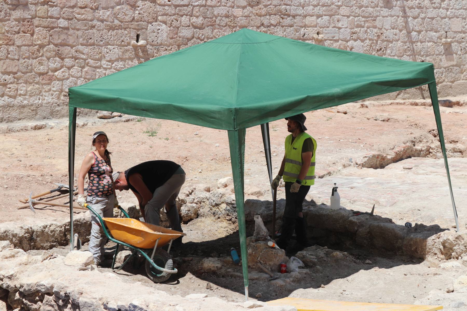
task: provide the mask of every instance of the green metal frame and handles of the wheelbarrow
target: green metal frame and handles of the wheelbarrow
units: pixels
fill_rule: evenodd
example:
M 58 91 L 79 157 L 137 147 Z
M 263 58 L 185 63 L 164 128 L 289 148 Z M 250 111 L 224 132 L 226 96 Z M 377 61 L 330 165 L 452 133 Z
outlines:
M 114 265 L 115 265 L 115 260 L 117 258 L 117 254 L 119 252 L 119 248 L 120 248 L 120 245 L 124 246 L 124 247 L 127 247 L 129 249 L 132 249 L 133 252 L 131 254 L 131 256 L 129 256 L 127 258 L 127 260 L 125 260 L 125 262 L 119 267 L 118 270 L 121 270 L 123 268 L 123 266 L 125 264 L 127 264 L 127 262 L 129 261 L 130 258 L 132 258 L 133 256 L 135 256 L 136 254 L 140 253 L 147 261 L 149 261 L 149 263 L 151 263 L 151 265 L 156 268 L 157 270 L 160 270 L 162 272 L 167 272 L 167 273 L 177 273 L 178 270 L 176 268 L 174 268 L 174 270 L 169 270 L 169 269 L 165 269 L 165 268 L 162 268 L 162 267 L 159 267 L 158 265 L 156 265 L 156 263 L 154 263 L 153 261 L 153 257 L 154 257 L 154 254 L 156 252 L 156 248 L 157 248 L 157 242 L 159 242 L 159 239 L 156 240 L 156 245 L 154 245 L 154 249 L 152 251 L 152 256 L 149 257 L 148 254 L 146 253 L 147 251 L 150 251 L 151 249 L 140 249 L 139 247 L 135 247 L 131 244 L 127 244 L 125 242 L 121 242 L 119 240 L 116 240 L 112 237 L 112 235 L 109 234 L 109 232 L 107 231 L 107 228 L 105 226 L 105 223 L 104 221 L 102 220 L 102 218 L 99 216 L 99 214 L 97 214 L 90 206 L 89 204 L 85 204 L 85 207 L 87 207 L 87 209 L 89 209 L 91 211 L 92 214 L 96 215 L 97 218 L 99 219 L 99 222 L 100 222 L 100 226 L 102 227 L 102 229 L 104 230 L 104 234 L 106 235 L 106 237 L 114 242 L 114 243 L 117 243 L 117 247 L 115 248 L 115 253 L 113 254 L 113 262 L 112 262 L 112 270 L 114 270 Z M 125 217 L 127 218 L 131 218 L 127 212 L 125 212 L 125 210 L 123 208 L 121 208 L 120 206 L 118 207 L 120 209 L 120 211 L 125 215 Z M 172 240 L 170 240 L 170 244 L 169 244 L 169 251 L 170 251 L 170 246 L 172 246 Z M 169 253 L 169 251 L 167 253 Z

